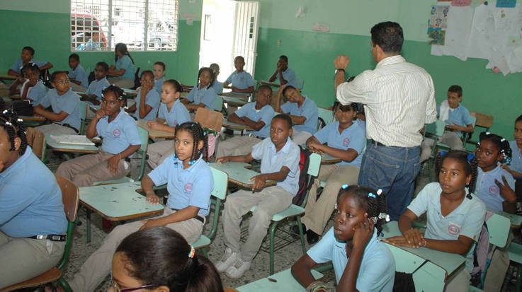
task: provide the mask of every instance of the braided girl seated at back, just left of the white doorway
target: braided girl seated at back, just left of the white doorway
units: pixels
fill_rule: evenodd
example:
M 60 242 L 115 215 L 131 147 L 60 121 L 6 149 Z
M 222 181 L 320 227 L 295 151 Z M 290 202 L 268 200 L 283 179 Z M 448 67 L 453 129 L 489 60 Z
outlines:
M 198 107 L 206 107 L 212 110 L 214 100 L 217 95 L 212 88 L 215 82 L 214 71 L 208 67 L 203 67 L 198 72 L 198 84 L 196 84 L 187 98 L 181 100 L 189 112 L 195 112 Z

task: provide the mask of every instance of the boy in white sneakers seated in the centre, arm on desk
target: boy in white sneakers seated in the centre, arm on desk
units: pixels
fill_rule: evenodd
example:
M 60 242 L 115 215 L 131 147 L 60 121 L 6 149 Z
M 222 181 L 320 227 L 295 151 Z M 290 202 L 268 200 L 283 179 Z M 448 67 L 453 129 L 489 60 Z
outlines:
M 292 139 L 292 119 L 288 115 L 273 117 L 270 138 L 256 144 L 251 153 L 244 156 L 225 156 L 217 163 L 229 161 L 249 163 L 261 159 L 261 174 L 251 177 L 252 189 L 241 189 L 227 196 L 223 211 L 225 231 L 225 254 L 216 263 L 218 271 L 225 271 L 230 278 L 240 278 L 251 266 L 252 259 L 259 251 L 272 216 L 292 204 L 299 187 L 300 149 Z M 267 180 L 277 182 L 272 187 L 264 187 Z M 256 211 L 250 218 L 249 236 L 243 247 L 239 246 L 239 225 L 242 216 L 253 206 Z

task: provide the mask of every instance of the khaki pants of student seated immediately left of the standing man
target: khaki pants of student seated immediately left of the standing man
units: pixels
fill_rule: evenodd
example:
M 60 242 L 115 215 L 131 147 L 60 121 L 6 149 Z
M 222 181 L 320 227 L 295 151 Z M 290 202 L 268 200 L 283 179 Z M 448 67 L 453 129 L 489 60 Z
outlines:
M 308 193 L 305 216 L 302 217 L 302 223 L 314 231 L 314 233 L 321 235 L 324 226 L 327 226 L 331 212 L 334 211 L 339 189 L 344 184 L 357 185 L 358 177 L 359 168 L 353 165 L 321 165 L 319 175 L 314 180 L 314 185 L 312 185 L 312 189 Z M 324 187 L 319 199 L 317 199 L 317 189 L 321 181 L 326 181 L 327 185 Z

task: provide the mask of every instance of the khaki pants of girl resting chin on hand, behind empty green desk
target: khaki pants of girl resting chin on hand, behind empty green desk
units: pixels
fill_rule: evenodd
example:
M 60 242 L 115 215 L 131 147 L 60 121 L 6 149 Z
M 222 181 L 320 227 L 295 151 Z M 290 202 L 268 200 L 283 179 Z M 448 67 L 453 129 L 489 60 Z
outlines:
M 77 187 L 89 187 L 93 182 L 115 180 L 128 175 L 130 164 L 123 159 L 120 159 L 116 173 L 109 170 L 107 160 L 113 156 L 113 154 L 100 151 L 96 154 L 67 160 L 59 165 L 56 174 L 71 180 Z

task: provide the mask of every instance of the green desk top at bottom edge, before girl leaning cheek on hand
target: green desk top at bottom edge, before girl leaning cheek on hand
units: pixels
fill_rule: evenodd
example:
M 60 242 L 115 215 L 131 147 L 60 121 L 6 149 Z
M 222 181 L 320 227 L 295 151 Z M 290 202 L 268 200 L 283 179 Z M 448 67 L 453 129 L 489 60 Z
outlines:
M 312 269 L 312 276 L 314 276 L 315 279 L 321 279 L 323 277 L 323 274 L 319 273 L 319 271 L 315 271 L 314 269 Z M 268 279 L 272 279 L 275 281 L 270 281 Z M 238 287 L 236 289 L 239 292 L 305 291 L 305 288 L 301 286 L 301 284 L 299 284 L 297 281 L 295 281 L 290 269 L 285 269 L 284 271 L 280 271 L 276 274 L 273 274 L 263 279 L 259 279 L 244 286 Z

